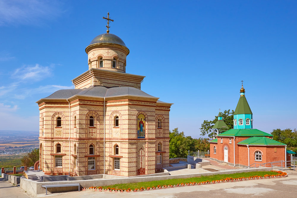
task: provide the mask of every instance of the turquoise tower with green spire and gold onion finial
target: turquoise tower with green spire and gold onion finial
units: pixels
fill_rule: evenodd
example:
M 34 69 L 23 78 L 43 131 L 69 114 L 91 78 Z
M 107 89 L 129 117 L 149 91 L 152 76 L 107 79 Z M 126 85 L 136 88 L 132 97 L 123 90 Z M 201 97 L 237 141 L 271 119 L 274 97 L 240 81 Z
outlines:
M 243 82 L 243 81 L 241 81 Z M 240 97 L 233 115 L 234 129 L 252 129 L 253 113 L 245 98 L 245 90 L 241 83 Z

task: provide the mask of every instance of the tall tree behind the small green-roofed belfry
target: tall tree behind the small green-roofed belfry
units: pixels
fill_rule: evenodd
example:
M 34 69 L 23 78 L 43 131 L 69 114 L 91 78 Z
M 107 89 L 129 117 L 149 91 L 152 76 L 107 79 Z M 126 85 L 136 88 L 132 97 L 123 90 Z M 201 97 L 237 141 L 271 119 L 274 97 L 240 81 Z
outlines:
M 234 110 L 232 110 L 230 113 L 230 109 L 225 110 L 222 113 L 222 119 L 226 123 L 229 129 L 233 129 L 233 114 L 234 114 Z M 212 129 L 212 127 L 217 121 L 218 121 L 218 116 L 215 116 L 214 120 L 211 120 L 211 121 L 204 120 L 200 128 L 201 135 L 208 134 L 208 137 L 213 137 L 214 130 Z M 222 132 L 224 131 L 223 130 L 219 131 L 219 134 Z

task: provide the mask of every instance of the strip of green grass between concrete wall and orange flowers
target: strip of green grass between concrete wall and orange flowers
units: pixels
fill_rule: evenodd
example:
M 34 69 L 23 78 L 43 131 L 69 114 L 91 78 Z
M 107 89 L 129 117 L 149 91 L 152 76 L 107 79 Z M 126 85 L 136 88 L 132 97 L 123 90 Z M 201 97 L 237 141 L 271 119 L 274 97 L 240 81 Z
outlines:
M 264 176 L 264 175 L 278 175 L 277 172 L 271 172 L 271 171 L 257 171 L 257 172 L 242 172 L 242 173 L 234 173 L 234 174 L 225 174 L 225 175 L 210 175 L 210 176 L 201 176 L 201 177 L 195 177 L 195 178 L 184 178 L 184 179 L 168 179 L 168 180 L 159 180 L 159 181 L 149 181 L 149 182 L 138 182 L 138 183 L 123 183 L 123 184 L 115 184 L 110 186 L 102 186 L 102 189 L 107 188 L 115 188 L 115 189 L 140 189 L 140 188 L 153 188 L 160 186 L 168 186 L 168 185 L 176 185 L 181 183 L 190 183 L 190 182 L 204 182 L 204 181 L 216 181 L 216 180 L 222 180 L 225 178 L 248 178 L 251 176 Z

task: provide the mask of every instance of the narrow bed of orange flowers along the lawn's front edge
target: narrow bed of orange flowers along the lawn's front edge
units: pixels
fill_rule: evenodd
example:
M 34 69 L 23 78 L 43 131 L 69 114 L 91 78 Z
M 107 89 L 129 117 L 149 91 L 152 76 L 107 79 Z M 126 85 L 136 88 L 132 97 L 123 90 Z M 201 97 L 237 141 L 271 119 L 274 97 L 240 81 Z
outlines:
M 263 178 L 275 178 L 275 177 L 287 177 L 286 172 L 282 171 L 274 171 L 271 172 L 277 173 L 277 174 L 265 174 L 264 176 L 258 176 L 258 175 L 252 175 L 249 177 L 239 177 L 239 178 L 232 178 L 232 177 L 226 177 L 221 180 L 213 180 L 213 181 L 202 181 L 202 182 L 189 182 L 189 183 L 177 183 L 176 185 L 157 185 L 157 186 L 151 186 L 151 187 L 140 187 L 138 188 L 127 188 L 127 189 L 117 189 L 117 188 L 110 188 L 107 187 L 106 189 L 99 187 L 91 186 L 89 188 L 84 188 L 83 190 L 90 190 L 90 191 L 99 191 L 99 192 L 141 192 L 141 191 L 147 191 L 147 190 L 157 190 L 157 189 L 166 189 L 166 188 L 174 188 L 179 186 L 195 186 L 195 185 L 204 185 L 204 184 L 213 184 L 213 183 L 223 183 L 223 182 L 234 182 L 234 181 L 243 181 L 243 180 L 252 180 L 252 179 L 263 179 Z

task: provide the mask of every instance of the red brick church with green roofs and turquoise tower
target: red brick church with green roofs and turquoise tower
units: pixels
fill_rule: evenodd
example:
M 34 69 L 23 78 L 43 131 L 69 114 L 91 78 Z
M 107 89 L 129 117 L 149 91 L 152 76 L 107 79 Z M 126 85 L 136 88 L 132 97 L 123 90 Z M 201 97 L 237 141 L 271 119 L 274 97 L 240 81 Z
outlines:
M 242 86 L 233 115 L 234 127 L 218 134 L 216 139 L 210 141 L 211 159 L 227 162 L 233 166 L 290 160 L 286 159 L 287 145 L 272 140 L 271 134 L 253 129 L 252 115 Z

